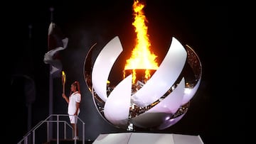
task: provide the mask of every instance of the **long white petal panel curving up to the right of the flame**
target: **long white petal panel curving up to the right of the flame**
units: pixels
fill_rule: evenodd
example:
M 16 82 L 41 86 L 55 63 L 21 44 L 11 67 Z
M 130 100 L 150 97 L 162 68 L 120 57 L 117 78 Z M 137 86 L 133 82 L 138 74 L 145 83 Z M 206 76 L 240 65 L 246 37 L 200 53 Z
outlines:
M 132 102 L 137 106 L 148 106 L 163 96 L 176 82 L 186 62 L 186 50 L 173 38 L 169 51 L 159 69 L 146 82 L 144 87 L 132 95 Z

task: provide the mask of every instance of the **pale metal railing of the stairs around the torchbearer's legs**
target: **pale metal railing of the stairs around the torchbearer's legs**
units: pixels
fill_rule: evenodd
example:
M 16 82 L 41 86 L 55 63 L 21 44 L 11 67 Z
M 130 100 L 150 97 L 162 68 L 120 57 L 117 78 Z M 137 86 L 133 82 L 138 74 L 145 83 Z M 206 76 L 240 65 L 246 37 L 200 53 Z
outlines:
M 55 120 L 53 119 L 53 116 L 56 116 Z M 43 125 L 43 123 L 47 123 L 47 142 L 50 141 L 50 123 L 56 123 L 56 140 L 57 144 L 60 143 L 60 123 L 63 123 L 63 133 L 64 133 L 64 139 L 67 139 L 67 126 L 73 131 L 73 127 L 70 126 L 70 124 L 67 121 L 60 120 L 60 116 L 70 116 L 68 114 L 51 114 L 46 118 L 44 121 L 40 121 L 36 126 L 31 128 L 31 131 L 28 131 L 26 135 L 23 136 L 23 138 L 17 143 L 17 144 L 28 144 L 28 138 L 32 134 L 32 143 L 36 143 L 36 131 L 38 130 L 39 127 Z M 85 144 L 85 123 L 77 117 L 80 123 L 82 123 L 82 144 Z M 72 133 L 74 135 L 74 133 Z M 74 143 L 77 143 L 77 140 L 74 140 Z

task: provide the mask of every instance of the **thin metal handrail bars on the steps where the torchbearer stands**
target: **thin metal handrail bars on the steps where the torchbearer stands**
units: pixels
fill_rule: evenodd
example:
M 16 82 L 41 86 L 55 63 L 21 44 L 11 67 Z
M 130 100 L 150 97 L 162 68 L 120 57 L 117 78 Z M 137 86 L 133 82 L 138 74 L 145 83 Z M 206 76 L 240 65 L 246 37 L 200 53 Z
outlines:
M 57 120 L 48 120 L 49 118 L 51 118 L 52 116 L 57 116 Z M 17 144 L 21 144 L 22 142 L 24 142 L 24 144 L 28 144 L 28 136 L 31 135 L 31 133 L 33 133 L 33 144 L 35 144 L 36 138 L 35 138 L 35 132 L 36 130 L 43 124 L 43 123 L 53 123 L 56 122 L 57 123 L 57 144 L 59 143 L 59 123 L 64 123 L 64 139 L 66 139 L 66 128 L 65 126 L 68 125 L 72 130 L 73 127 L 70 126 L 70 124 L 67 121 L 61 121 L 59 120 L 60 116 L 72 116 L 72 115 L 68 115 L 68 114 L 51 114 L 50 116 L 48 116 L 44 121 L 40 121 L 38 124 L 36 124 L 36 126 L 34 126 L 33 128 L 31 128 L 30 131 L 28 131 L 28 133 L 26 133 L 26 135 L 23 136 L 23 138 L 17 143 Z M 78 120 L 82 123 L 82 144 L 85 144 L 85 122 L 82 121 L 81 118 L 78 117 Z M 47 125 L 47 130 L 49 126 Z M 49 135 L 48 131 L 47 131 L 47 135 Z M 73 133 L 74 135 L 74 133 Z M 47 137 L 47 141 L 49 141 L 49 136 Z M 74 143 L 77 143 L 77 140 L 74 140 Z

